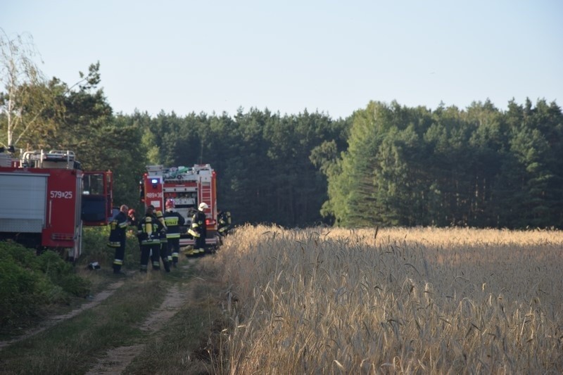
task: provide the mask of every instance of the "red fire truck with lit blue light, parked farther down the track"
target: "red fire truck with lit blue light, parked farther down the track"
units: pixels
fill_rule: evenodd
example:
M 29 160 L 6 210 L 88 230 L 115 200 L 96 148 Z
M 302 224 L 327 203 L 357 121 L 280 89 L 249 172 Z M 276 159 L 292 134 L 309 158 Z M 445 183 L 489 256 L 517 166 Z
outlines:
M 141 202 L 145 206 L 153 205 L 164 212 L 164 204 L 171 198 L 175 210 L 186 220 L 186 227 L 181 228 L 180 246 L 194 245 L 194 239 L 186 234 L 191 225 L 191 217 L 198 205 L 207 203 L 207 238 L 205 243 L 211 248 L 219 243 L 217 234 L 217 185 L 216 174 L 209 164 L 196 164 L 193 167 L 170 167 L 148 165 L 139 184 Z

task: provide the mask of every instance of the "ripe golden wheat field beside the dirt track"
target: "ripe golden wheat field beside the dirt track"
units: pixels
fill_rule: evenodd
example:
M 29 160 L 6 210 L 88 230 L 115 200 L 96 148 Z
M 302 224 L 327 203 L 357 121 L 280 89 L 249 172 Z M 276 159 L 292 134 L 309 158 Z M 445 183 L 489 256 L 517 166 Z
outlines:
M 561 374 L 563 232 L 244 226 L 229 374 Z

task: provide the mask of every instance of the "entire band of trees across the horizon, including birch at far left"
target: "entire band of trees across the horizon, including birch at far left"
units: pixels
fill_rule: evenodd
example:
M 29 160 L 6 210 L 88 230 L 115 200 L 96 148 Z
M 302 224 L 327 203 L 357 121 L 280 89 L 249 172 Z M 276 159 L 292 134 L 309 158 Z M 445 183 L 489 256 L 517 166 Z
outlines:
M 80 77 L 7 87 L 0 143 L 70 149 L 87 170 L 113 170 L 115 205 L 142 210 L 146 165 L 204 163 L 236 224 L 563 228 L 555 102 L 511 101 L 507 110 L 371 102 L 339 120 L 255 108 L 124 115 L 99 88 L 99 64 Z

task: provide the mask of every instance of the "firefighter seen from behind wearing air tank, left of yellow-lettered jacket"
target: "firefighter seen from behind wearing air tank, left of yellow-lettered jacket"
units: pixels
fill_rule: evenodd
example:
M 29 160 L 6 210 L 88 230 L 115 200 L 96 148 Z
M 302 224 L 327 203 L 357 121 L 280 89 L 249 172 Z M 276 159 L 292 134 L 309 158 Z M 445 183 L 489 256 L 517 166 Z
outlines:
M 141 239 L 141 272 L 146 272 L 148 268 L 148 258 L 153 260 L 153 269 L 160 269 L 160 231 L 163 224 L 160 224 L 154 215 L 154 206 L 146 208 L 145 216 L 139 222 L 139 239 Z M 151 257 L 152 255 L 152 257 Z M 154 261 L 156 255 L 157 262 Z

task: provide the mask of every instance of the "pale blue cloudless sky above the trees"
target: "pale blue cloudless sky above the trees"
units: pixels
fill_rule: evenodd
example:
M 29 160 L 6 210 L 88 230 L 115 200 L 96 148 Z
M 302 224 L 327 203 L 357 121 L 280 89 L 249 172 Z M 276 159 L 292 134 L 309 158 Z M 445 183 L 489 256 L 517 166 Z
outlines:
M 0 28 L 69 86 L 99 62 L 115 113 L 563 104 L 561 0 L 18 0 Z

